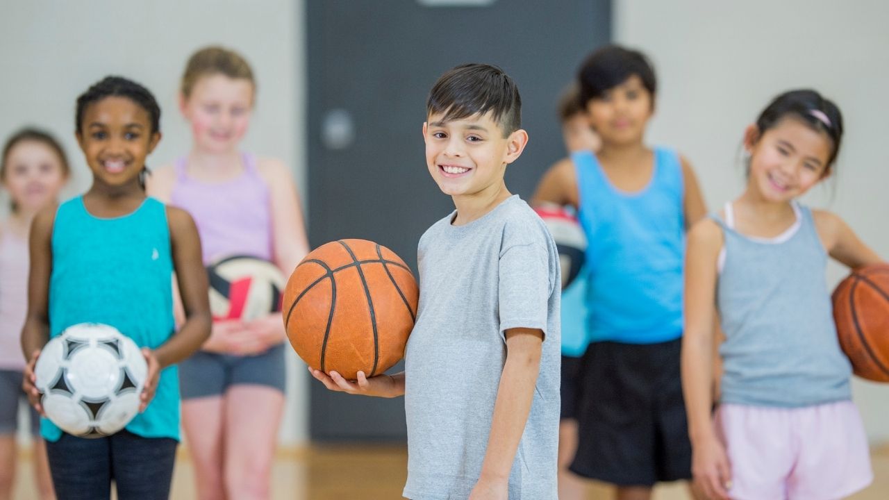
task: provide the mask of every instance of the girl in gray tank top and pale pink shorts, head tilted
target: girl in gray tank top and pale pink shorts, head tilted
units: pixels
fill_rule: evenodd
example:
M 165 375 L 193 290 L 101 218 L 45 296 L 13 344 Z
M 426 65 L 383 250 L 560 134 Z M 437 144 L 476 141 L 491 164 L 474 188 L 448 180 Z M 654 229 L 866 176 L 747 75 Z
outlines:
M 880 258 L 839 217 L 795 201 L 832 173 L 842 134 L 833 102 L 782 93 L 744 134 L 747 189 L 689 231 L 683 387 L 709 498 L 840 498 L 872 480 L 824 273 L 828 257 Z

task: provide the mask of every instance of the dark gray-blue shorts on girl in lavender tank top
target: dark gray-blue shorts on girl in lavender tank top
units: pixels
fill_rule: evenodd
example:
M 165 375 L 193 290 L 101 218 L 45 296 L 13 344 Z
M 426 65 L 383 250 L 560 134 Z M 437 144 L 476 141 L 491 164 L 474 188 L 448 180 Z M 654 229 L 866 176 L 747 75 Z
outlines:
M 256 356 L 197 351 L 179 364 L 182 399 L 221 396 L 232 385 L 265 385 L 284 392 L 284 343 Z

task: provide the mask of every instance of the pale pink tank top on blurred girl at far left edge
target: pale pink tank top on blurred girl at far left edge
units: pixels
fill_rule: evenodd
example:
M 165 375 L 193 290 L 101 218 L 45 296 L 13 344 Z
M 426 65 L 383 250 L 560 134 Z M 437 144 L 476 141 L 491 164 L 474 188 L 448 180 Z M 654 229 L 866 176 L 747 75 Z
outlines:
M 7 232 L 0 237 L 0 369 L 25 367 L 21 327 L 28 313 L 28 241 Z

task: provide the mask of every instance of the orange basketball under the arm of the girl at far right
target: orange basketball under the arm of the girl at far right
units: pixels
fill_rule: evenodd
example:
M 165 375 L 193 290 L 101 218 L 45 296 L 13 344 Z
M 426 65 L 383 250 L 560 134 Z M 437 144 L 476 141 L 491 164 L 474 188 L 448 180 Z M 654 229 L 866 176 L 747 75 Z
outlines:
M 833 308 L 855 375 L 889 382 L 889 264 L 853 270 L 834 290 Z

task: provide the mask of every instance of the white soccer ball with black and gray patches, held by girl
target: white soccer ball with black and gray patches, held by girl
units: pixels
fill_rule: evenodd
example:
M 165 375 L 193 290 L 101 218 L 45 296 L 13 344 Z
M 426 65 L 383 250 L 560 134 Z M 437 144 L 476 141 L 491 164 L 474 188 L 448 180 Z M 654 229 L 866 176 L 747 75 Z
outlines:
M 139 411 L 148 364 L 115 327 L 81 323 L 52 338 L 34 368 L 46 416 L 62 431 L 100 438 Z

